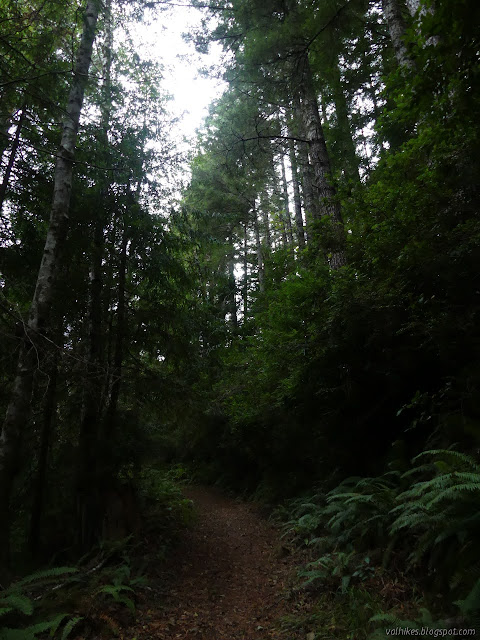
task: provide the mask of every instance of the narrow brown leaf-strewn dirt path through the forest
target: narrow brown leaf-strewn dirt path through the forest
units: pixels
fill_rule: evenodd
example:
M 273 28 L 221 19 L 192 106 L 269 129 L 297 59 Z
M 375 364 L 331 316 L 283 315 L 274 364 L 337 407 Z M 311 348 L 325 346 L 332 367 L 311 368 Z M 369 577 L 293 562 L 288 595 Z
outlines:
M 137 640 L 277 640 L 294 569 L 278 532 L 248 504 L 186 491 L 198 521 L 172 558 L 168 588 L 140 604 Z M 172 570 L 173 569 L 173 570 Z M 155 591 L 154 591 L 155 593 Z M 289 636 L 290 638 L 292 636 Z

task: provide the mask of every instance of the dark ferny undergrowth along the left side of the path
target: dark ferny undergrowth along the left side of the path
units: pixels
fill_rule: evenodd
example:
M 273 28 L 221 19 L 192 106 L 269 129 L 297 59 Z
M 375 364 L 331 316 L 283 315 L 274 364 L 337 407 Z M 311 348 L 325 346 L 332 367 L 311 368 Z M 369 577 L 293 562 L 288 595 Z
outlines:
M 120 637 L 151 591 L 152 575 L 193 522 L 184 470 L 144 469 L 135 495 L 141 525 L 105 539 L 72 566 L 50 566 L 0 591 L 0 639 Z

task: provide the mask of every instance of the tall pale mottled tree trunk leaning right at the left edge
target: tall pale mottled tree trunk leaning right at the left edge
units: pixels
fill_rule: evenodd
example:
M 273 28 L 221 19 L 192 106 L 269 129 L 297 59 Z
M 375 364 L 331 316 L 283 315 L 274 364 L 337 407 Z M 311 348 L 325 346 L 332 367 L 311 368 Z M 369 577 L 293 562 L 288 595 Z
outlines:
M 27 330 L 20 348 L 11 399 L 0 436 L 0 567 L 7 565 L 10 553 L 10 495 L 19 464 L 22 430 L 25 429 L 29 419 L 33 375 L 37 365 L 37 350 L 33 342 L 48 329 L 60 250 L 68 230 L 73 160 L 85 86 L 92 59 L 98 4 L 98 0 L 88 0 L 85 10 L 84 27 L 57 154 L 50 224 L 30 307 Z

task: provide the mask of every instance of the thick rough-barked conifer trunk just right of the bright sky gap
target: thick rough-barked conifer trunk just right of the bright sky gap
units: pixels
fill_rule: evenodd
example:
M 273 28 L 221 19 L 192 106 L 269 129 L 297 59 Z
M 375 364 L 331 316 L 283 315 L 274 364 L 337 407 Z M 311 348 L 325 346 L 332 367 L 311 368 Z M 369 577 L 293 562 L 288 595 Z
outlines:
M 318 112 L 318 102 L 313 86 L 312 71 L 308 55 L 302 60 L 301 69 L 301 101 L 300 108 L 308 140 L 308 152 L 313 168 L 314 197 L 319 203 L 321 217 L 328 217 L 331 222 L 331 234 L 324 250 L 332 269 L 346 264 L 345 234 L 340 203 L 333 186 L 330 158 L 323 135 L 322 123 Z

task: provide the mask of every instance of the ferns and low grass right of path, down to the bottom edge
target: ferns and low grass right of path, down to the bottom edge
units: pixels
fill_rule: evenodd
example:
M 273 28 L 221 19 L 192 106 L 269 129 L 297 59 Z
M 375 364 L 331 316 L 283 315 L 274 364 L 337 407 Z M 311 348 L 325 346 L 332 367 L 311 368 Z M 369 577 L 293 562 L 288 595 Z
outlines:
M 313 624 L 316 638 L 479 633 L 479 492 L 471 456 L 431 450 L 404 472 L 347 478 L 278 508 L 285 539 L 308 557 L 301 588 L 317 599 L 308 620 L 285 626 Z

